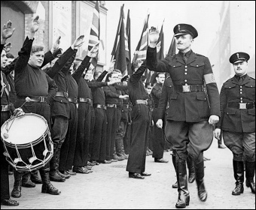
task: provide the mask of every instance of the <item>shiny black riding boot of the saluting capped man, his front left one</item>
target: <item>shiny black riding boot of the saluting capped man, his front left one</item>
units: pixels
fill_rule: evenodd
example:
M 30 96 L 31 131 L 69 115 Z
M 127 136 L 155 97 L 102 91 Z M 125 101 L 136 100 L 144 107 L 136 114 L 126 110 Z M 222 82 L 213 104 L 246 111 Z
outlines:
M 178 160 L 177 160 L 178 159 Z M 185 208 L 189 205 L 189 192 L 187 190 L 187 167 L 186 161 L 176 157 L 176 175 L 178 180 L 178 201 L 176 208 Z

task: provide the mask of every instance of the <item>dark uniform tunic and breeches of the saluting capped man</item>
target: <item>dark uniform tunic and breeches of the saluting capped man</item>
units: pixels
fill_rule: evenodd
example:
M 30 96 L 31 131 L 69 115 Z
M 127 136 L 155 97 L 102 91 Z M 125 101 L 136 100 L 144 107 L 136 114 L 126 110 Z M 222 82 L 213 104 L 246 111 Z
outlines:
M 187 61 L 184 61 L 183 53 L 178 52 L 157 62 L 156 48 L 148 47 L 147 51 L 147 67 L 151 71 L 168 72 L 172 78 L 174 91 L 170 97 L 165 132 L 167 139 L 172 141 L 173 149 L 184 160 L 187 159 L 187 151 L 197 158 L 201 151 L 209 148 L 213 139 L 209 116 L 220 115 L 218 87 L 209 58 L 192 50 L 186 54 Z M 182 86 L 200 89 L 182 92 Z

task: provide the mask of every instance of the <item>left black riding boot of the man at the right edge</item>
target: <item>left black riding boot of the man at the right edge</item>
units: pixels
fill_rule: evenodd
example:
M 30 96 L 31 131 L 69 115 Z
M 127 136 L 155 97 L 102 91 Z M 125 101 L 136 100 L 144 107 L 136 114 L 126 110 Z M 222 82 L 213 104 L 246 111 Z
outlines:
M 233 160 L 233 175 L 236 179 L 236 187 L 232 191 L 232 194 L 236 196 L 243 193 L 243 181 L 244 181 L 243 161 Z

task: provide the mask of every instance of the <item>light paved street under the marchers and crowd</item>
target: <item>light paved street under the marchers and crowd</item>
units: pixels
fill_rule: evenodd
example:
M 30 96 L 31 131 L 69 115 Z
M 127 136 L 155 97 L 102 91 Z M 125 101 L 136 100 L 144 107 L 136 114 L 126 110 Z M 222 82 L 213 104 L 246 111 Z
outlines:
M 211 159 L 205 161 L 205 183 L 208 191 L 206 202 L 197 197 L 197 184 L 189 184 L 190 205 L 187 209 L 255 209 L 255 195 L 250 188 L 240 196 L 233 196 L 235 187 L 232 168 L 232 154 L 227 149 L 217 148 L 217 140 L 204 154 Z M 178 198 L 172 155 L 164 153 L 169 163 L 154 163 L 151 156 L 146 160 L 146 172 L 150 177 L 144 180 L 128 178 L 126 160 L 111 164 L 93 166 L 90 174 L 77 174 L 64 183 L 52 182 L 62 191 L 58 196 L 41 193 L 41 184 L 35 188 L 22 189 L 17 200 L 20 205 L 2 209 L 175 209 Z M 14 178 L 10 175 L 10 191 Z

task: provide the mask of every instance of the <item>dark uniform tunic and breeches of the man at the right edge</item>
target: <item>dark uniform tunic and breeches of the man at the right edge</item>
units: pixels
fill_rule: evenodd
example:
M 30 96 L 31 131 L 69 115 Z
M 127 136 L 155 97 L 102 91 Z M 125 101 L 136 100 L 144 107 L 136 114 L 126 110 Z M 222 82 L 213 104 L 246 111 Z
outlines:
M 234 76 L 221 88 L 221 119 L 224 143 L 233 152 L 233 160 L 255 161 L 255 80 L 247 74 Z M 249 103 L 239 109 L 239 103 Z

